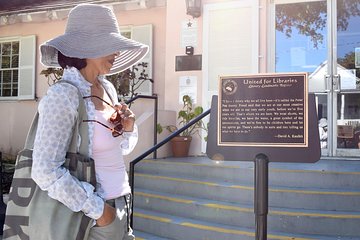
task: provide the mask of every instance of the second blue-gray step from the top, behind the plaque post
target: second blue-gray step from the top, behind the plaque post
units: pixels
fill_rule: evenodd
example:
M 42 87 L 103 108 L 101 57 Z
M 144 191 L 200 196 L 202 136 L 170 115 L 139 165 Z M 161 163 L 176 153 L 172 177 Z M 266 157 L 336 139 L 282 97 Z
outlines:
M 213 179 L 135 174 L 135 186 L 158 192 L 242 204 L 253 204 L 254 187 Z M 360 189 L 270 187 L 269 206 L 322 211 L 358 211 Z

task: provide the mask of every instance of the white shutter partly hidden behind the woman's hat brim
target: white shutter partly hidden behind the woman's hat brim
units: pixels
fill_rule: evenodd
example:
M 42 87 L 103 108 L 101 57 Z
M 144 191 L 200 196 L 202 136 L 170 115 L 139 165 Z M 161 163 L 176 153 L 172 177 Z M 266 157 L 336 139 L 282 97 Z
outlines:
M 131 28 L 131 38 L 135 41 L 144 43 L 149 46 L 149 52 L 146 56 L 141 60 L 142 62 L 146 62 L 148 67 L 146 68 L 146 73 L 149 75 L 149 78 L 152 79 L 152 25 L 140 25 L 133 26 Z M 142 95 L 152 95 L 153 86 L 150 81 L 144 82 L 139 89 L 136 91 L 138 94 Z

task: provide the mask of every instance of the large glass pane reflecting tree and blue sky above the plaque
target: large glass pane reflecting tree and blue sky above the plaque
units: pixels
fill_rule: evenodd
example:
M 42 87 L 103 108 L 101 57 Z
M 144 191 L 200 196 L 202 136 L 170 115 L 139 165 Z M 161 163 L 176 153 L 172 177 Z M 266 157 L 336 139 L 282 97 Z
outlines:
M 307 72 L 309 92 L 325 92 L 327 2 L 276 0 L 271 14 L 269 72 Z

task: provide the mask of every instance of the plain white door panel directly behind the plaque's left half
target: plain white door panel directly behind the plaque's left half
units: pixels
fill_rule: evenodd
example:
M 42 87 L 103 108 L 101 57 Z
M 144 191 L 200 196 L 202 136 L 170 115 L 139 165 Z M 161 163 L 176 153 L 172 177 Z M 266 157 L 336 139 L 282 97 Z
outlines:
M 208 109 L 218 94 L 219 76 L 258 73 L 259 1 L 204 4 L 203 29 L 202 105 Z

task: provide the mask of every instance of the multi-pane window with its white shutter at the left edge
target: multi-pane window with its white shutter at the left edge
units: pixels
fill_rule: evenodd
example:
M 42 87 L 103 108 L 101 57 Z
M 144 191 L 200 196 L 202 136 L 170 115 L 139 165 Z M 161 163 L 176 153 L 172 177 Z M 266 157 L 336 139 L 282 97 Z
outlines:
M 0 100 L 35 98 L 35 36 L 0 38 Z

